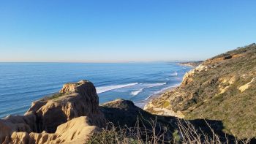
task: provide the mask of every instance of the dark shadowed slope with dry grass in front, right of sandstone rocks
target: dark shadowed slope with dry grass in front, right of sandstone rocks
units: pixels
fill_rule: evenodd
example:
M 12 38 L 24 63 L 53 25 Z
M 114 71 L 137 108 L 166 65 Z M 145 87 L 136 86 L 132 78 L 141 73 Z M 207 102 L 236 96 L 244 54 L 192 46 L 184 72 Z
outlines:
M 109 122 L 88 143 L 243 143 L 218 131 L 221 121 L 191 120 L 148 113 L 133 102 L 116 99 L 100 105 Z M 249 142 L 249 140 L 248 140 Z

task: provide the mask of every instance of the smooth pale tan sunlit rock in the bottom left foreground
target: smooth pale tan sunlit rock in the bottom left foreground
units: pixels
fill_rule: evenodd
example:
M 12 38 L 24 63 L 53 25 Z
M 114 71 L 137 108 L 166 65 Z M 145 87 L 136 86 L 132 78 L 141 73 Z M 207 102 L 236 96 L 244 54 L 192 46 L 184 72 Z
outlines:
M 94 132 L 99 131 L 99 127 L 91 125 L 88 117 L 81 116 L 61 124 L 55 133 L 12 132 L 11 136 L 7 135 L 2 142 L 20 144 L 86 143 L 86 140 Z

